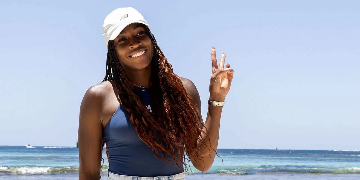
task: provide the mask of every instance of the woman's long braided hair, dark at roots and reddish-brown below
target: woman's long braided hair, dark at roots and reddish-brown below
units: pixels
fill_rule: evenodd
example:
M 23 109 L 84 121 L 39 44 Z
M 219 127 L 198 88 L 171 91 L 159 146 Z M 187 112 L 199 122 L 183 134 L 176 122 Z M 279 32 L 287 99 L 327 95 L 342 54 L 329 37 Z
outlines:
M 157 45 L 149 28 L 141 25 L 154 47 L 150 77 L 152 112 L 148 111 L 139 96 L 134 93 L 134 86 L 117 57 L 114 40 L 108 43 L 106 72 L 103 81 L 112 80 L 116 84 L 119 103 L 128 113 L 130 122 L 138 132 L 139 138 L 153 150 L 154 156 L 163 162 L 175 162 L 180 169 L 179 164 L 183 164 L 188 171 L 184 159 L 188 160 L 190 166 L 188 158 L 191 154 L 195 154 L 197 158 L 203 157 L 199 154 L 199 144 L 204 143 L 200 134 L 202 132 L 206 136 L 209 134 L 207 130 L 203 131 L 198 124 L 199 114 L 196 111 L 195 102 L 186 93 L 180 77 L 173 72 L 171 64 L 168 63 Z M 201 125 L 205 127 L 203 122 Z M 102 141 L 103 147 L 104 141 Z M 184 154 L 185 147 L 186 156 Z M 206 145 L 206 148 L 210 155 L 210 148 L 213 149 L 211 144 L 210 147 Z M 215 149 L 213 150 L 216 152 Z M 165 154 L 172 158 L 167 159 Z M 219 156 L 217 152 L 216 155 Z M 108 154 L 107 157 L 109 161 Z

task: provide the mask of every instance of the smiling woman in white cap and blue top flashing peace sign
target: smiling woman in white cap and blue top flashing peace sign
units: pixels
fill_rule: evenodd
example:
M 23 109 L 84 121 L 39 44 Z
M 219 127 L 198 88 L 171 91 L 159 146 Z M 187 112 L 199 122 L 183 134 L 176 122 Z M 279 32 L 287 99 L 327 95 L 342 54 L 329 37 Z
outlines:
M 211 50 L 210 99 L 203 123 L 192 81 L 174 74 L 149 24 L 134 8 L 104 20 L 106 75 L 85 93 L 80 107 L 79 179 L 99 179 L 102 142 L 108 179 L 185 179 L 184 159 L 207 171 L 215 158 L 220 116 L 233 69 Z M 186 156 L 185 152 L 186 151 Z

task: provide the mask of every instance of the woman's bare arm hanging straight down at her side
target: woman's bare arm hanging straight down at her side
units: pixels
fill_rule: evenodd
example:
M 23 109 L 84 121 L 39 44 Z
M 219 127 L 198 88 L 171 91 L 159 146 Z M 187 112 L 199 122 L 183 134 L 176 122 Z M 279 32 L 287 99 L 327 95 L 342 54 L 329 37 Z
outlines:
M 99 89 L 91 86 L 80 106 L 78 148 L 79 180 L 100 179 L 101 140 L 103 126 L 100 121 L 101 96 Z

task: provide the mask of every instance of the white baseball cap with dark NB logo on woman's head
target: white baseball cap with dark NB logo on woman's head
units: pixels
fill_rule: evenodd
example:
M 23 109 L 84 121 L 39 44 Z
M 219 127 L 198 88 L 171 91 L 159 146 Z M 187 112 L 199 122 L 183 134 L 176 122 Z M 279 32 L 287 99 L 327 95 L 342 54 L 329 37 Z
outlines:
M 145 24 L 150 28 L 143 15 L 134 8 L 117 8 L 108 14 L 103 24 L 103 37 L 106 47 L 108 47 L 110 40 L 114 40 L 131 23 Z

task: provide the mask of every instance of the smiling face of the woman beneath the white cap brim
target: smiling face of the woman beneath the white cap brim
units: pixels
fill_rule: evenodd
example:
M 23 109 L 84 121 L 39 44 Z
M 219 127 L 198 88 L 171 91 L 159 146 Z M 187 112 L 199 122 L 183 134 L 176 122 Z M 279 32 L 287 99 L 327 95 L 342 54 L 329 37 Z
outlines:
M 151 68 L 154 48 L 140 23 L 127 25 L 114 39 L 117 57 L 126 71 Z

